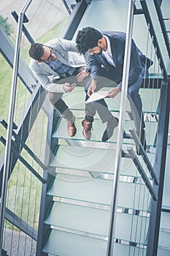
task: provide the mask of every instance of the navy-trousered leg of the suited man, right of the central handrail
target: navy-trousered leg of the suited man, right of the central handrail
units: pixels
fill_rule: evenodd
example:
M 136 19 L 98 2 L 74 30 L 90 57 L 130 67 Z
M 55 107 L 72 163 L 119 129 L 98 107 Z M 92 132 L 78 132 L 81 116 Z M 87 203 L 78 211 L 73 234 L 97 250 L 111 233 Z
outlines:
M 142 85 L 143 76 L 139 75 L 139 78 L 128 87 L 128 99 L 131 105 L 131 113 L 134 118 L 134 124 L 136 127 L 136 132 L 139 136 L 139 139 L 146 150 L 146 140 L 145 140 L 145 124 L 144 116 L 142 111 L 142 99 L 139 95 L 139 89 Z M 136 148 L 137 154 L 141 154 L 139 148 Z

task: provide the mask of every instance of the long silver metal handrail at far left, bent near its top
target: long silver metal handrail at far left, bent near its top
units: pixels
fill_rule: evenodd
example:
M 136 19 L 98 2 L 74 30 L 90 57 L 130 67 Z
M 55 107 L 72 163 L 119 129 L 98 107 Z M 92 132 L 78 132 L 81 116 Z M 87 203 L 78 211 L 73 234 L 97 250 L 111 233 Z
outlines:
M 9 163 L 10 163 L 11 146 L 12 146 L 12 125 L 13 125 L 13 117 L 14 117 L 14 109 L 15 109 L 15 96 L 16 96 L 17 79 L 18 79 L 18 64 L 19 64 L 19 56 L 20 56 L 20 42 L 21 42 L 22 28 L 23 28 L 23 16 L 28 6 L 31 4 L 31 1 L 32 0 L 26 1 L 26 3 L 23 6 L 23 9 L 20 10 L 20 15 L 18 20 L 18 31 L 17 31 L 17 39 L 16 39 L 16 45 L 15 45 L 14 66 L 13 66 L 13 74 L 12 74 L 12 88 L 11 88 L 11 96 L 10 96 L 10 103 L 9 103 L 7 144 L 6 144 L 5 155 L 4 155 L 4 171 L 3 171 L 2 189 L 1 189 L 0 255 L 2 253 L 3 238 L 4 238 L 4 214 L 5 214 L 5 206 L 6 206 L 6 200 L 7 200 L 7 181 L 9 176 Z

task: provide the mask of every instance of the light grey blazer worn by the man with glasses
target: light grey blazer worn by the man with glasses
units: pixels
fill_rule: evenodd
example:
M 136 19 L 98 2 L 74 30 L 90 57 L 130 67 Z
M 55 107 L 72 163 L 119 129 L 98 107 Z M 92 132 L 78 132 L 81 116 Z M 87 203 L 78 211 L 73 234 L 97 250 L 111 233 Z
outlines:
M 69 67 L 85 66 L 87 69 L 90 68 L 89 54 L 85 53 L 85 56 L 80 55 L 74 41 L 55 38 L 46 42 L 45 45 L 53 48 L 53 53 L 55 53 L 57 59 L 63 64 Z M 63 89 L 63 84 L 51 82 L 53 79 L 60 78 L 60 75 L 53 71 L 45 62 L 38 63 L 36 60 L 31 59 L 29 66 L 46 91 L 66 92 Z

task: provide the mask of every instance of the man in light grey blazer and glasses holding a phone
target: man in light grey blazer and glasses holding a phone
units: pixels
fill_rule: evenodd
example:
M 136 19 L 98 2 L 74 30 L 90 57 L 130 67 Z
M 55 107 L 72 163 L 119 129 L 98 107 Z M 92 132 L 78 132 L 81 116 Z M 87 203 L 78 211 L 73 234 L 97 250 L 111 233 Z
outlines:
M 45 45 L 31 45 L 29 56 L 32 58 L 31 70 L 47 91 L 52 105 L 66 118 L 70 137 L 74 136 L 77 131 L 75 117 L 61 97 L 63 93 L 73 91 L 76 84 L 83 85 L 82 80 L 89 75 L 86 71 L 90 69 L 89 54 L 80 55 L 72 40 L 56 38 Z

